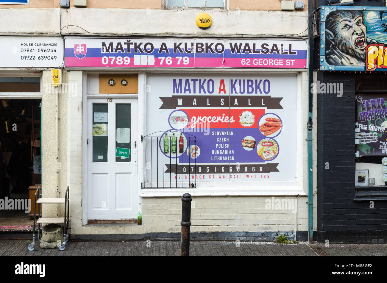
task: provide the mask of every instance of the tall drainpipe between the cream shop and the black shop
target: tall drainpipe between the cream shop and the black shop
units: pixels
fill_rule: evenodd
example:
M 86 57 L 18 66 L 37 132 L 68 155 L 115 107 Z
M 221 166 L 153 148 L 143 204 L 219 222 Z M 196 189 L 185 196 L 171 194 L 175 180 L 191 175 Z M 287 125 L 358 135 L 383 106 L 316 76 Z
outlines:
M 313 150 L 312 150 L 312 128 L 313 128 L 313 93 L 310 85 L 313 83 L 313 0 L 308 0 L 308 242 L 313 242 Z

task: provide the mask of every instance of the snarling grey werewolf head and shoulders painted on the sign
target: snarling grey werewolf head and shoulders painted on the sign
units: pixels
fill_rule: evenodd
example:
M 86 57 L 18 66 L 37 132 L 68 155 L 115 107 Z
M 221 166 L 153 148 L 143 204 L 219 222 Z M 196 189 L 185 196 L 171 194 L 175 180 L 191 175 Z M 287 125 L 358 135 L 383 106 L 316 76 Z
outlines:
M 359 10 L 330 12 L 325 21 L 325 60 L 329 65 L 365 66 L 366 46 L 377 43 L 366 38 L 364 13 Z M 327 44 L 328 43 L 328 44 Z

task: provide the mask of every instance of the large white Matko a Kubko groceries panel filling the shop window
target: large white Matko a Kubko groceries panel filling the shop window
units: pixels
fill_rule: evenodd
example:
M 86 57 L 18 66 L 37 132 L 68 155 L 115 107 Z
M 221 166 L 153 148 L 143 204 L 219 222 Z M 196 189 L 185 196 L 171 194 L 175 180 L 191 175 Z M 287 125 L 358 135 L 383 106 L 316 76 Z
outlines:
M 296 75 L 148 75 L 145 187 L 295 181 L 296 111 Z

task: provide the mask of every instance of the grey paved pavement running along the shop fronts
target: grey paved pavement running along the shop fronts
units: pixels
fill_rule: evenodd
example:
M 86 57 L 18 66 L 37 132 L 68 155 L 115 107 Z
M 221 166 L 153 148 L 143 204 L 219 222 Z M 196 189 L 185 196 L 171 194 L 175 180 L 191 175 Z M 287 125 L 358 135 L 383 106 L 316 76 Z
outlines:
M 180 256 L 180 241 L 87 242 L 70 240 L 64 251 L 30 252 L 31 240 L 0 240 L 0 256 Z M 191 241 L 190 256 L 387 256 L 387 244 L 277 244 L 274 242 Z

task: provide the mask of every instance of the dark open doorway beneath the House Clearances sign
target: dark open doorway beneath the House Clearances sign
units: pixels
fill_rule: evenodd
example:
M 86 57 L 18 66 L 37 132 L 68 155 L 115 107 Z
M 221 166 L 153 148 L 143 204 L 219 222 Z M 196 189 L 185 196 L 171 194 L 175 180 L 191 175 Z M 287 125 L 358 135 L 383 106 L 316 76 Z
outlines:
M 41 186 L 41 99 L 31 93 L 40 89 L 40 77 L 0 78 L 0 233 L 32 231 Z

